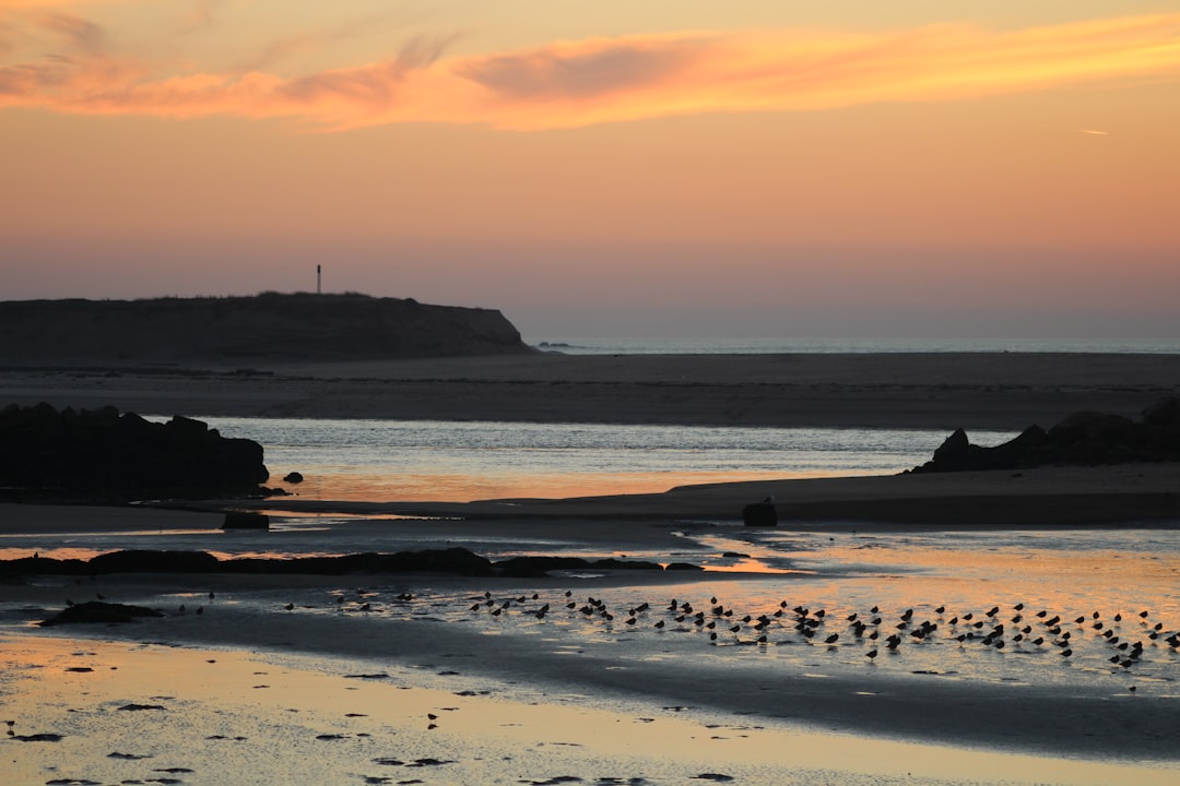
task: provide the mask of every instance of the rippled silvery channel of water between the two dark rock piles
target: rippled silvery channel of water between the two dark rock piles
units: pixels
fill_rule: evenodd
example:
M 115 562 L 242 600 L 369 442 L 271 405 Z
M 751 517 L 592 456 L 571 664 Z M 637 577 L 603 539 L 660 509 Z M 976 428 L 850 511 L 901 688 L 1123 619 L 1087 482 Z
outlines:
M 157 418 L 160 420 L 160 418 Z M 304 498 L 454 501 L 658 493 L 689 483 L 890 475 L 927 461 L 931 429 L 814 429 L 199 417 L 263 445 L 270 484 Z M 976 431 L 998 444 L 1015 431 Z

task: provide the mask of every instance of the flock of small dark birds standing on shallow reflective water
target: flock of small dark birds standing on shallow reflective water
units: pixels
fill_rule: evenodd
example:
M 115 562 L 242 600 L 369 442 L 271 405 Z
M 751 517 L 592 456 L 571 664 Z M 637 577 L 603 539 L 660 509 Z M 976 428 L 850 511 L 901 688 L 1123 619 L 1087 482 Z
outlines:
M 576 599 L 572 590 L 548 601 L 539 594 L 497 597 L 491 592 L 471 600 L 472 614 L 535 620 L 562 614 L 611 630 L 623 626 L 622 629 L 695 632 L 714 645 L 809 643 L 832 649 L 858 646 L 868 662 L 933 640 L 997 652 L 1055 653 L 1068 660 L 1081 641 L 1093 639 L 1106 648 L 1103 656 L 1115 669 L 1134 668 L 1149 650 L 1180 654 L 1180 630 L 1166 628 L 1148 610 L 1108 616 L 1096 610 L 1066 615 L 1015 603 L 963 613 L 938 606 L 920 615 L 914 608 L 890 615 L 873 606 L 866 612 L 832 614 L 784 600 L 773 610 L 749 614 L 725 606 L 716 597 L 700 605 L 671 599 L 656 608 L 648 602 L 611 608 L 599 597 Z

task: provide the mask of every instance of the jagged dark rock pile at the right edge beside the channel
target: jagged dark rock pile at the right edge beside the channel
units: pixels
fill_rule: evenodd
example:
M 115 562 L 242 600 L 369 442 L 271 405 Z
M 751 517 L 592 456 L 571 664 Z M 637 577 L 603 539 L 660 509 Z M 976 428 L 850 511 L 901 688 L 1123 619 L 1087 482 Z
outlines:
M 1107 412 L 1074 412 L 1048 431 L 1030 425 L 999 445 L 971 444 L 956 430 L 914 473 L 1024 469 L 1180 461 L 1180 398 L 1165 398 L 1139 421 Z

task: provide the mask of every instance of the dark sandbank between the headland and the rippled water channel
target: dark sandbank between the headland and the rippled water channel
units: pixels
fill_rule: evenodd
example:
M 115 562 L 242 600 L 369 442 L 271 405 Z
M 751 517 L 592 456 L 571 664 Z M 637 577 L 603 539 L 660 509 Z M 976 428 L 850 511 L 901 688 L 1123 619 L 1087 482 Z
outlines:
M 1136 416 L 1178 355 L 524 356 L 254 368 L 9 368 L 0 401 L 144 415 L 1014 429 Z

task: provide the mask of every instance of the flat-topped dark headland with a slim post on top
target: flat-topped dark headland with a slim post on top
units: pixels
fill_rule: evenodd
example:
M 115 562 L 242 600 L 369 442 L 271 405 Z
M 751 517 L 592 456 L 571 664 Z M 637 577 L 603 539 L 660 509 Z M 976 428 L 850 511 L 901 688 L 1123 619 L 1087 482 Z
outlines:
M 0 303 L 0 363 L 136 365 L 529 352 L 499 311 L 365 295 Z

